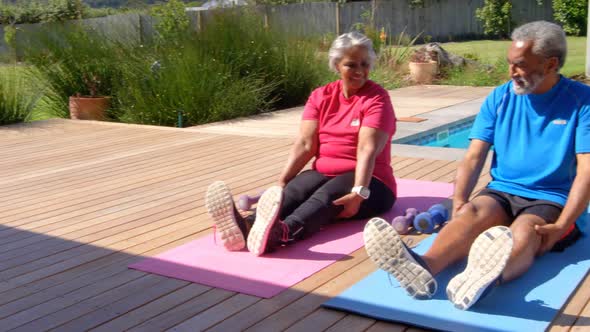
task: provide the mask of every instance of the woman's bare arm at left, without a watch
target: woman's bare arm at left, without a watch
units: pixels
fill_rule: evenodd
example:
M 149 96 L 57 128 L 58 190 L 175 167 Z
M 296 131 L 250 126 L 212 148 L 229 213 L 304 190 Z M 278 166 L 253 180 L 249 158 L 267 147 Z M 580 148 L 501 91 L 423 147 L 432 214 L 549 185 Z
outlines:
M 299 137 L 295 140 L 287 164 L 279 176 L 279 185 L 284 187 L 293 179 L 318 151 L 318 121 L 303 120 Z

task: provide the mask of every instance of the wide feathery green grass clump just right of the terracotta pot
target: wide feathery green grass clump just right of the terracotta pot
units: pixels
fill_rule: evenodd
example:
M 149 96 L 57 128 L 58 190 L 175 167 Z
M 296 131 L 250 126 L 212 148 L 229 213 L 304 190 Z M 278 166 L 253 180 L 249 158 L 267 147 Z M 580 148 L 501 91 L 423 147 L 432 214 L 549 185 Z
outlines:
M 182 112 L 183 123 L 195 125 L 268 109 L 271 87 L 262 79 L 239 77 L 199 48 L 182 45 L 160 52 L 156 65 L 144 60 L 126 68 L 118 94 L 120 121 L 174 126 Z

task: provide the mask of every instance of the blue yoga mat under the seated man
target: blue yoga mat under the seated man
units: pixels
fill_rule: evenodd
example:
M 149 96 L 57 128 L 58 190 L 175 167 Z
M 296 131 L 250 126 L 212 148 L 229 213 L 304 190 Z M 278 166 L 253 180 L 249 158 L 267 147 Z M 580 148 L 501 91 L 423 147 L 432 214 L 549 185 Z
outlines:
M 521 278 L 497 287 L 468 311 L 453 307 L 446 297 L 449 280 L 465 262 L 447 269 L 436 279 L 432 299 L 415 300 L 399 283 L 378 270 L 323 306 L 372 318 L 449 331 L 544 331 L 590 268 L 588 215 L 578 221 L 584 236 L 563 253 L 537 259 Z M 423 240 L 416 252 L 424 253 L 436 235 Z

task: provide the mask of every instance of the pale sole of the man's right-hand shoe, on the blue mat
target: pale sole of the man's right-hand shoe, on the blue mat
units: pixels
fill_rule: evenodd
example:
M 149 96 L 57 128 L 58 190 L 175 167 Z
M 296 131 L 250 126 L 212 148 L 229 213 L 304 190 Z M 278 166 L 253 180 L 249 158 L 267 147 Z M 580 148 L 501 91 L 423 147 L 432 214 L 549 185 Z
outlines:
M 512 253 L 512 232 L 504 226 L 492 227 L 480 234 L 469 250 L 465 271 L 447 286 L 447 297 L 456 308 L 469 309 L 494 282 Z

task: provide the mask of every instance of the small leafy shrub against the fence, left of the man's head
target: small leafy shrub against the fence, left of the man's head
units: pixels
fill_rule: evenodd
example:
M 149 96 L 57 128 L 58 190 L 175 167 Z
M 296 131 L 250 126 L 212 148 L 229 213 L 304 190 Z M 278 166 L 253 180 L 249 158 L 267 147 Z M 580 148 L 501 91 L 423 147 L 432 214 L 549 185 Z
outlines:
M 514 25 L 508 0 L 485 0 L 483 7 L 475 10 L 475 17 L 482 21 L 484 34 L 490 36 L 507 37 Z

